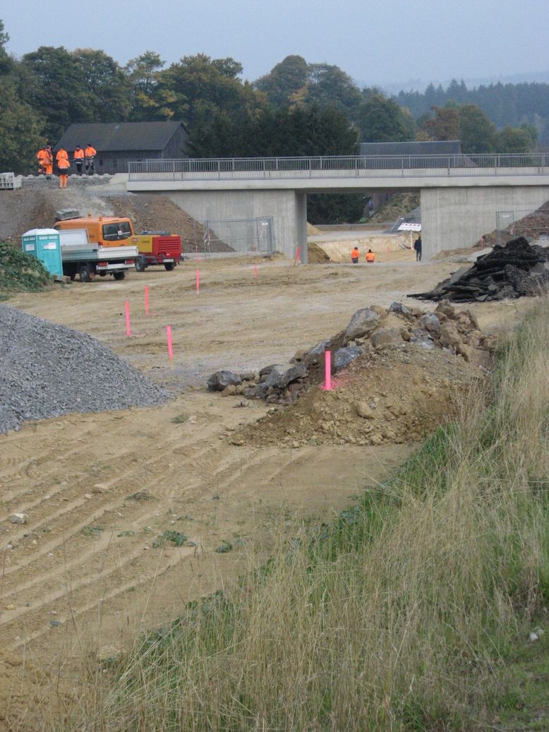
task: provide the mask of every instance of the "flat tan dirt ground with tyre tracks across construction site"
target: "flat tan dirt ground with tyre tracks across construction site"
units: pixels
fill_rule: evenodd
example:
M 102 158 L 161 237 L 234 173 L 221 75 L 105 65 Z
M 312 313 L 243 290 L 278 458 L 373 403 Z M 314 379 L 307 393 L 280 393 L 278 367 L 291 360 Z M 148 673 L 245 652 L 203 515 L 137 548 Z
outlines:
M 187 261 L 174 272 L 57 285 L 10 301 L 96 337 L 173 398 L 159 408 L 70 414 L 0 436 L 0 729 L 21 714 L 19 728 L 34 728 L 41 705 L 33 700 L 51 695 L 52 685 L 61 698 L 70 695 L 90 654 L 116 654 L 141 630 L 177 616 L 187 600 L 230 586 L 301 521 L 329 520 L 417 447 L 232 440 L 270 405 L 239 407 L 242 397 L 206 392 L 205 381 L 223 368 L 286 362 L 367 305 L 398 300 L 427 310 L 406 294 L 433 288 L 458 265 L 293 266 L 274 258 L 257 262 L 255 280 L 255 264 Z M 531 304 L 522 298 L 471 309 L 491 332 L 515 324 Z M 10 523 L 14 512 L 26 513 L 27 523 Z M 169 537 L 179 534 L 165 532 L 184 534 L 187 544 L 175 545 L 181 542 Z

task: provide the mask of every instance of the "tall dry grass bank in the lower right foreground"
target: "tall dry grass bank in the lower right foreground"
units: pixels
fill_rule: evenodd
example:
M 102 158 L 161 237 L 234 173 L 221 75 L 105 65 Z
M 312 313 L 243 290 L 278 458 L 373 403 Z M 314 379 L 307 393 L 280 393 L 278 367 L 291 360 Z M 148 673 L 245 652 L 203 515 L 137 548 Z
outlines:
M 97 673 L 74 728 L 474 728 L 549 602 L 548 448 L 545 300 L 458 423 Z

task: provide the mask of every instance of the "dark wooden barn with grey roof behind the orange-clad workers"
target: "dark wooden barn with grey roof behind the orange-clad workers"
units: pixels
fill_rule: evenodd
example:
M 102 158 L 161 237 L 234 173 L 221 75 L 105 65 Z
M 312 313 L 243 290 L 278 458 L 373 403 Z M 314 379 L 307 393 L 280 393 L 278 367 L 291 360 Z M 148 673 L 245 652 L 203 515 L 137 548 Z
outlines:
M 183 122 L 105 122 L 71 124 L 55 150 L 72 152 L 88 143 L 97 150 L 97 173 L 127 173 L 128 163 L 136 160 L 188 157 L 189 133 Z

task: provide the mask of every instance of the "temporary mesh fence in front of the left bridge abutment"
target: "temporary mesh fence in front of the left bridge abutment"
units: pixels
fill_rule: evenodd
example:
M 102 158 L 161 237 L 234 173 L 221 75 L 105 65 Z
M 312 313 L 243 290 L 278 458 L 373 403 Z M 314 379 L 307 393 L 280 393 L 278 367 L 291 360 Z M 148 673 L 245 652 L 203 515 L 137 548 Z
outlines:
M 193 242 L 185 242 L 187 253 L 209 256 L 214 253 L 271 254 L 275 251 L 272 216 L 255 219 L 207 219 L 195 223 L 193 238 Z

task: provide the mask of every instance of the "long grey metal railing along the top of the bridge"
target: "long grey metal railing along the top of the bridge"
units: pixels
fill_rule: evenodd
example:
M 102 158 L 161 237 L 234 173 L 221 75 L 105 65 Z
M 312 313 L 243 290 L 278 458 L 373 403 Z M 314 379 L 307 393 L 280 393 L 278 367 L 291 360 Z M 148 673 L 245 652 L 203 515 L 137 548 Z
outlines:
M 217 157 L 129 163 L 130 181 L 549 175 L 549 154 Z

